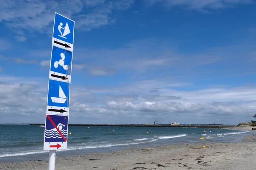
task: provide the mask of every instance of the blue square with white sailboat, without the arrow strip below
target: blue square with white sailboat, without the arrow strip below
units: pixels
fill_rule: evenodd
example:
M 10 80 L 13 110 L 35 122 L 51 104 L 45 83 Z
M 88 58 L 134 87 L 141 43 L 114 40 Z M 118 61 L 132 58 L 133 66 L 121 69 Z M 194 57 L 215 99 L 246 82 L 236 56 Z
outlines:
M 69 108 L 70 83 L 49 79 L 48 106 Z

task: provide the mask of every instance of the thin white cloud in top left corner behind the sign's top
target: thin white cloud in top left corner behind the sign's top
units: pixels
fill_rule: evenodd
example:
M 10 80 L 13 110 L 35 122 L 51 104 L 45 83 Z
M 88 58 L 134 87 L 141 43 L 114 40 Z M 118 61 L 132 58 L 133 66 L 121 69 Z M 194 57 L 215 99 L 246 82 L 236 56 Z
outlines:
M 76 21 L 76 28 L 90 30 L 108 25 L 114 19 L 113 10 L 126 10 L 134 0 L 8 0 L 1 1 L 0 22 L 17 33 L 16 38 L 25 40 L 24 30 L 52 34 L 54 12 Z M 26 10 L 24 10 L 26 9 Z M 19 30 L 18 32 L 16 30 Z

